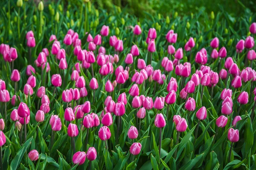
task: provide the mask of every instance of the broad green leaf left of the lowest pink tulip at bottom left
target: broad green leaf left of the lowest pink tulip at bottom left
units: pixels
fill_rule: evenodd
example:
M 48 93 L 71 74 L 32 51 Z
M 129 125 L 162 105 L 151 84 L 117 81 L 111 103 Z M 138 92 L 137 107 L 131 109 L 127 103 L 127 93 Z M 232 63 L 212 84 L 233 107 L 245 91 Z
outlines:
M 17 152 L 16 156 L 14 157 L 14 159 L 11 162 L 11 166 L 10 169 L 11 170 L 16 170 L 17 167 L 20 165 L 20 161 L 23 158 L 26 149 L 29 147 L 30 142 L 32 141 L 32 137 L 30 139 L 28 139 L 23 145 L 22 147 L 20 147 L 20 150 Z

